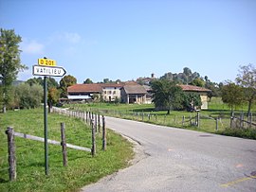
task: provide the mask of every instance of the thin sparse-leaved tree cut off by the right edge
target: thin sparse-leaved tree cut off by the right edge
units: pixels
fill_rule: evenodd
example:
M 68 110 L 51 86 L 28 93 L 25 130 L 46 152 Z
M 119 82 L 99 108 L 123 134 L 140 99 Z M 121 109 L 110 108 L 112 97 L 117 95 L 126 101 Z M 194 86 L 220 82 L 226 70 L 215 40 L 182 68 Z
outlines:
M 256 68 L 253 64 L 240 66 L 236 82 L 243 87 L 244 99 L 248 102 L 247 115 L 251 110 L 251 105 L 256 99 Z

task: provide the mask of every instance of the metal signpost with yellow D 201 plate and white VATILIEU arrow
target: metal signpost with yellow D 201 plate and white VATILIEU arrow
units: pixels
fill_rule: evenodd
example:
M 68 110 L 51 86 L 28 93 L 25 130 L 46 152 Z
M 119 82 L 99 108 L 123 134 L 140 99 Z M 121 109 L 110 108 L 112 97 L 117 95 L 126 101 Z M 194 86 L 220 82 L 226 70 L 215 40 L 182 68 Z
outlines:
M 49 172 L 48 162 L 48 136 L 47 136 L 47 77 L 63 77 L 65 75 L 63 67 L 56 67 L 56 61 L 44 59 L 38 59 L 38 65 L 33 66 L 33 76 L 44 76 L 44 124 L 45 124 L 45 166 L 46 175 Z

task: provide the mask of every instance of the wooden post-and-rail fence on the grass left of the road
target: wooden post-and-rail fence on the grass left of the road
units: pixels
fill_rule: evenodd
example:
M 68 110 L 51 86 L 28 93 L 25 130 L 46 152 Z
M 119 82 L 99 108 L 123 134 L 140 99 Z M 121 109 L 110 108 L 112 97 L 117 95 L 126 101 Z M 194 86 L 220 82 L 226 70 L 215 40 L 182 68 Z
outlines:
M 83 151 L 91 152 L 93 156 L 96 155 L 96 131 L 101 132 L 102 129 L 102 150 L 106 150 L 106 127 L 105 127 L 105 118 L 103 115 L 102 120 L 100 114 L 94 113 L 87 113 L 87 112 L 74 112 L 68 111 L 65 109 L 60 108 L 53 108 L 52 112 L 65 114 L 69 117 L 76 117 L 81 118 L 85 123 L 89 123 L 92 129 L 92 148 L 84 148 L 80 146 L 75 146 L 72 144 L 67 144 L 65 141 L 65 134 L 64 134 L 64 123 L 61 123 L 61 139 L 62 141 L 55 141 L 47 139 L 48 144 L 62 146 L 63 148 L 63 163 L 64 166 L 67 166 L 67 152 L 66 148 L 75 148 Z M 45 142 L 45 138 L 38 137 L 26 133 L 15 132 L 12 128 L 8 128 L 6 131 L 8 135 L 8 146 L 9 146 L 9 181 L 15 181 L 17 174 L 16 174 L 16 155 L 15 155 L 15 137 L 21 137 L 28 140 L 40 141 Z

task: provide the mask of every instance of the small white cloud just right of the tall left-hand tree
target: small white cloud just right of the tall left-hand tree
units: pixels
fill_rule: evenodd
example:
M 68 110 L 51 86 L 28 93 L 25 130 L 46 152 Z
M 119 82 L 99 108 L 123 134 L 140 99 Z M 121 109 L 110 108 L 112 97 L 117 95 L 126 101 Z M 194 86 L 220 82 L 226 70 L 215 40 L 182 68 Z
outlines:
M 27 54 L 44 54 L 45 45 L 37 43 L 35 40 L 25 40 L 21 44 L 23 53 Z

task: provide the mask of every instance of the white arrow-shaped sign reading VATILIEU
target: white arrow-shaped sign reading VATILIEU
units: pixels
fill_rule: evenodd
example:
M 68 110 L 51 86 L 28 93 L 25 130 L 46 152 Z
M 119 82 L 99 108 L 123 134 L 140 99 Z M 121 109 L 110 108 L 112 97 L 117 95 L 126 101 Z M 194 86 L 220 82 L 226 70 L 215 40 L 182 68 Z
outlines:
M 33 76 L 50 76 L 50 77 L 63 77 L 65 75 L 63 67 L 57 66 L 33 66 Z

